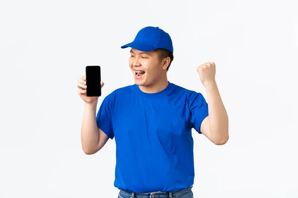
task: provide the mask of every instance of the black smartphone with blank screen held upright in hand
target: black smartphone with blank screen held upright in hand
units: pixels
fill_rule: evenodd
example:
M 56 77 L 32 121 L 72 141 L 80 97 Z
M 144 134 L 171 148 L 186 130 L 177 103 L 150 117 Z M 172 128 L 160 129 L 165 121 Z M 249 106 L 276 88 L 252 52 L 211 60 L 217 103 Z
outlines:
M 101 96 L 101 74 L 100 66 L 86 66 L 86 96 Z

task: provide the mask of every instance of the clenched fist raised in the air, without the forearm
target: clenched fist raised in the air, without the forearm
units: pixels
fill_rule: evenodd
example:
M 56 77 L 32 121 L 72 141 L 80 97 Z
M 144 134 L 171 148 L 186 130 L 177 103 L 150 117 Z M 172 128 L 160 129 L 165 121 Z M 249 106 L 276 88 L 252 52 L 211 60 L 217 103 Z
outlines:
M 197 67 L 201 82 L 204 86 L 215 84 L 215 63 L 206 62 Z

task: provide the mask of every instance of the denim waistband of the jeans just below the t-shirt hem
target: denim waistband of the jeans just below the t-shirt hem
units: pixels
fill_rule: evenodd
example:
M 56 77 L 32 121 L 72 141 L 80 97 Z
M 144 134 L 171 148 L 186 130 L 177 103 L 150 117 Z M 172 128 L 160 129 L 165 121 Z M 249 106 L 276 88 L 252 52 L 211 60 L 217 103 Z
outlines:
M 187 191 L 190 191 L 193 186 L 188 187 L 186 189 L 180 190 L 180 191 L 172 191 L 172 192 L 161 192 L 161 191 L 156 191 L 152 193 L 133 193 L 133 192 L 126 192 L 124 190 L 120 190 L 120 193 L 123 195 L 126 195 L 130 198 L 154 198 L 159 195 L 169 195 L 169 198 L 174 198 L 176 196 L 179 196 L 183 193 L 186 193 Z

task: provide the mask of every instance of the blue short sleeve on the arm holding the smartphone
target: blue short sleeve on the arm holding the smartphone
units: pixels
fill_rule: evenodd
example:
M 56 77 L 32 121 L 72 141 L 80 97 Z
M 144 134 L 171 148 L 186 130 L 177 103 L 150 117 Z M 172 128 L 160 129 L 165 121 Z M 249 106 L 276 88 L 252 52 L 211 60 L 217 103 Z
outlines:
M 96 124 L 110 139 L 114 138 L 114 132 L 111 122 L 111 103 L 107 96 L 103 99 L 96 115 Z

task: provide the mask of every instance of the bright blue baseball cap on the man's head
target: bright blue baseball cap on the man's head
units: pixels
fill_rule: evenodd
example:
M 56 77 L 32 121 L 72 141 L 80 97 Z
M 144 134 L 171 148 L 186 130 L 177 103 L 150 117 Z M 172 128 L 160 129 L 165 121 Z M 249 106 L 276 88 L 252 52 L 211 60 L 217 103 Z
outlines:
M 148 26 L 141 29 L 133 42 L 121 46 L 122 49 L 128 47 L 140 51 L 151 51 L 162 48 L 173 53 L 173 44 L 170 35 L 159 27 Z

